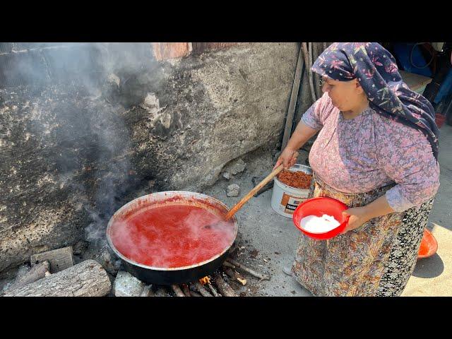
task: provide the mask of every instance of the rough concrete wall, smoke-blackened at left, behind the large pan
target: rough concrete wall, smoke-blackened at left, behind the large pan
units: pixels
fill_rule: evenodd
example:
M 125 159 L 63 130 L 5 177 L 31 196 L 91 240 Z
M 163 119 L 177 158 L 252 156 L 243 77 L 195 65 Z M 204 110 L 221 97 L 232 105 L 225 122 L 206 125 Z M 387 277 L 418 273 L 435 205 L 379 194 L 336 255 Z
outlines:
M 280 142 L 297 44 L 2 44 L 0 270 L 104 239 L 138 191 L 200 191 Z

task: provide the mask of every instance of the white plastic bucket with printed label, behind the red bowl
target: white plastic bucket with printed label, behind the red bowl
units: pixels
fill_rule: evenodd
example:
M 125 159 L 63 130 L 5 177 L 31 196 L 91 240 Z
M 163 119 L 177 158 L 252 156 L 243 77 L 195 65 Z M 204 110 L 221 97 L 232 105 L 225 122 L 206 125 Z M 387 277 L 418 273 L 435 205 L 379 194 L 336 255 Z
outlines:
M 295 164 L 290 167 L 290 171 L 302 171 L 312 175 L 311 167 L 300 164 Z M 308 198 L 309 189 L 296 189 L 295 187 L 287 186 L 280 182 L 277 177 L 273 180 L 271 207 L 276 213 L 284 215 L 287 218 L 292 218 L 295 208 Z

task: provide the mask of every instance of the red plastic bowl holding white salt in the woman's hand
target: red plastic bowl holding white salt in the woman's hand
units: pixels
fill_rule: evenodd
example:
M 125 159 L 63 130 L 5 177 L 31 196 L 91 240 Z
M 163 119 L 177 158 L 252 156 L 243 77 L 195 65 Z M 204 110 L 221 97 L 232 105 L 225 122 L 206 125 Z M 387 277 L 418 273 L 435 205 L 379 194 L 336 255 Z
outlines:
M 344 210 L 347 210 L 348 207 L 345 203 L 342 203 L 336 199 L 328 198 L 328 197 L 318 197 L 307 199 L 306 201 L 299 204 L 299 206 L 295 209 L 294 214 L 292 215 L 292 220 L 300 231 L 306 234 L 308 237 L 318 240 L 331 239 L 342 232 L 347 226 L 348 218 L 342 215 Z M 316 215 L 316 217 L 321 217 L 323 214 L 331 215 L 340 222 L 340 225 L 335 229 L 324 232 L 324 233 L 315 233 L 308 232 L 304 230 L 300 223 L 304 217 L 308 215 Z

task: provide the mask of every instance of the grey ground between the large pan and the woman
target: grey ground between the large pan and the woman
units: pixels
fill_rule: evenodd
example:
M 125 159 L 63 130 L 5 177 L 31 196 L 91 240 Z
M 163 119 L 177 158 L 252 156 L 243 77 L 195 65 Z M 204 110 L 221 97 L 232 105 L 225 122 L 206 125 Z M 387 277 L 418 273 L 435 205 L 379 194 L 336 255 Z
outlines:
M 299 162 L 304 164 L 306 156 L 306 152 L 300 152 Z M 253 189 L 252 177 L 265 177 L 273 169 L 273 158 L 269 152 L 254 154 L 253 157 L 245 159 L 245 162 L 244 172 L 236 174 L 229 180 L 222 178 L 201 193 L 217 198 L 230 208 L 234 206 Z M 227 186 L 230 184 L 239 184 L 239 196 L 227 197 Z M 309 296 L 311 294 L 307 290 L 283 273 L 283 267 L 292 264 L 299 231 L 291 218 L 275 213 L 270 206 L 271 196 L 272 189 L 269 189 L 257 197 L 252 197 L 235 214 L 239 232 L 242 233 L 237 261 L 260 273 L 270 275 L 270 280 L 261 282 L 251 278 L 246 294 L 275 297 Z M 249 275 L 244 276 L 250 278 Z

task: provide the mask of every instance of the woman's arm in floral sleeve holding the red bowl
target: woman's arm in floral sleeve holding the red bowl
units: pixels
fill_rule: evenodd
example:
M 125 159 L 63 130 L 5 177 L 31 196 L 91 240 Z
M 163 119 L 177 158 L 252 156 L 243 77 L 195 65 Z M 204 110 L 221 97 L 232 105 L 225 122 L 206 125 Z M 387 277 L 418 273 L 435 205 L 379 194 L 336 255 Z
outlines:
M 427 138 L 415 129 L 392 121 L 379 126 L 386 126 L 377 131 L 379 162 L 396 186 L 367 206 L 346 210 L 344 213 L 350 215 L 350 220 L 343 233 L 372 218 L 420 206 L 438 191 L 439 165 Z

